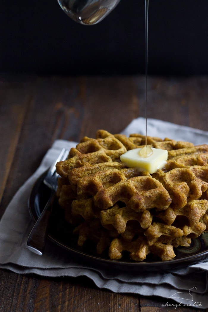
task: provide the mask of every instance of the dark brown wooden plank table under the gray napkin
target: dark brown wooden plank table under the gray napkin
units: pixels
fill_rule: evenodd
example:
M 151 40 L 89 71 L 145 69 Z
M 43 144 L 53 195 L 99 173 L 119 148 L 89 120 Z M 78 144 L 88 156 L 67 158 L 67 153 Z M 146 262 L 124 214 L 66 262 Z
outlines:
M 208 131 L 207 104 L 208 77 L 148 77 L 149 118 Z M 55 139 L 79 141 L 97 129 L 119 133 L 138 116 L 145 117 L 144 76 L 1 75 L 0 217 Z M 0 311 L 175 311 L 162 307 L 162 298 L 114 294 L 84 277 L 0 271 Z

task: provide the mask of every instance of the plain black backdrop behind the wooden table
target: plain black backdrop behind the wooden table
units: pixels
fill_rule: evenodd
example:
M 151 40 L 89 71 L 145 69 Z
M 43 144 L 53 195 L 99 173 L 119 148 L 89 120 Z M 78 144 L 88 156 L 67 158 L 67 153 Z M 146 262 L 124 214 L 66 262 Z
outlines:
M 0 71 L 144 74 L 144 0 L 121 0 L 97 25 L 56 0 L 0 0 Z M 208 0 L 150 0 L 148 74 L 208 74 Z

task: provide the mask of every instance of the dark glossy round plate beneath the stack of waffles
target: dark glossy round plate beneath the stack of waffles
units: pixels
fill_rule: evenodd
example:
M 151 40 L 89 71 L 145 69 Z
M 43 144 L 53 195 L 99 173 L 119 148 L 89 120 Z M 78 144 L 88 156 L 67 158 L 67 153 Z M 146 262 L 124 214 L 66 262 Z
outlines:
M 50 190 L 43 183 L 45 174 L 42 174 L 36 181 L 29 198 L 29 210 L 34 221 L 38 219 L 50 196 Z M 175 248 L 176 257 L 173 260 L 161 261 L 148 255 L 147 259 L 142 262 L 133 262 L 129 259 L 110 260 L 108 255 L 97 256 L 93 253 L 92 244 L 85 246 L 85 249 L 78 249 L 76 246 L 77 238 L 72 235 L 72 231 L 73 228 L 66 223 L 61 209 L 58 209 L 57 202 L 54 202 L 48 238 L 65 251 L 70 252 L 76 261 L 87 261 L 91 266 L 107 266 L 121 270 L 156 271 L 188 266 L 208 257 L 208 232 L 193 239 L 189 247 Z

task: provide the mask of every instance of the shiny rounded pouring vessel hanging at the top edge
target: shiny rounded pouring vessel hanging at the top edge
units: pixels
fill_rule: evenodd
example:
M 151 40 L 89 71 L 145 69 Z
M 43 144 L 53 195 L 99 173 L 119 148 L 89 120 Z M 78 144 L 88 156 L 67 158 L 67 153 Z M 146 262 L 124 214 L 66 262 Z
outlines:
M 84 25 L 99 23 L 119 2 L 120 0 L 58 0 L 69 17 Z

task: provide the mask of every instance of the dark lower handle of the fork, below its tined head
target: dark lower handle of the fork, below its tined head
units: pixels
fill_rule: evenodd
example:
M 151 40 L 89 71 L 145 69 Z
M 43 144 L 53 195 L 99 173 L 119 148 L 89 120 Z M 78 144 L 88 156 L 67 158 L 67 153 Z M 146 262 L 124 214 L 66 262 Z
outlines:
M 39 256 L 42 256 L 45 249 L 48 219 L 51 215 L 52 203 L 55 197 L 56 192 L 51 191 L 51 196 L 27 239 L 26 247 Z

